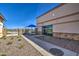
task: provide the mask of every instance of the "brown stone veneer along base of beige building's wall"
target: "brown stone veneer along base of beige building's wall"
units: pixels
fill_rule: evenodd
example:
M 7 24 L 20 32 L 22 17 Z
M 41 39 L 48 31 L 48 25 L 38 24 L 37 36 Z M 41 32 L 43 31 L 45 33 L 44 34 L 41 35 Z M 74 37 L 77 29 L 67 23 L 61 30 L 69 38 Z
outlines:
M 61 32 L 53 32 L 53 36 L 57 38 L 65 38 L 70 40 L 79 40 L 79 34 L 77 33 L 61 33 Z

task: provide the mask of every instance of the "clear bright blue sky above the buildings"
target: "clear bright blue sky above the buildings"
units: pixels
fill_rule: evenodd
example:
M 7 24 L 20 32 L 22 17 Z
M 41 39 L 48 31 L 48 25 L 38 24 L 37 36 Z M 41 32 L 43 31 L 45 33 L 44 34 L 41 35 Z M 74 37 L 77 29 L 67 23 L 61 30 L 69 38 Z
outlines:
M 0 13 L 5 17 L 6 28 L 24 28 L 30 24 L 36 25 L 36 17 L 58 5 L 58 3 L 0 3 Z

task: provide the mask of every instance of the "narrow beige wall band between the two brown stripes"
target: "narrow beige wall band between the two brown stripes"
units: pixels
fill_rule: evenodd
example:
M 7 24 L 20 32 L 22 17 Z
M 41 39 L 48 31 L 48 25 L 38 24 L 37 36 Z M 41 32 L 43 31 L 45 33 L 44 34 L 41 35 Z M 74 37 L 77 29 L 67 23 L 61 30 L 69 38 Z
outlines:
M 45 23 L 41 23 L 41 24 L 38 24 L 38 26 L 49 25 L 49 24 L 57 24 L 57 23 L 64 23 L 64 22 L 70 22 L 70 21 L 79 21 L 79 14 L 69 16 L 69 17 L 65 17 L 65 18 L 61 18 L 61 19 L 57 19 L 57 20 L 53 20 L 53 21 L 49 21 L 49 22 L 45 22 Z

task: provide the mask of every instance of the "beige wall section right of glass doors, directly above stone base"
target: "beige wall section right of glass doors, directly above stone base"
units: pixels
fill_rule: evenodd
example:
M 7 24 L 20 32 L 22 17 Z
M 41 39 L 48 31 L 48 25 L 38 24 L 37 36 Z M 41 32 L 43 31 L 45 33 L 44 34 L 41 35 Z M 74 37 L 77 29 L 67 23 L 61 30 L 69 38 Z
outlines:
M 79 22 L 54 25 L 53 32 L 79 33 Z

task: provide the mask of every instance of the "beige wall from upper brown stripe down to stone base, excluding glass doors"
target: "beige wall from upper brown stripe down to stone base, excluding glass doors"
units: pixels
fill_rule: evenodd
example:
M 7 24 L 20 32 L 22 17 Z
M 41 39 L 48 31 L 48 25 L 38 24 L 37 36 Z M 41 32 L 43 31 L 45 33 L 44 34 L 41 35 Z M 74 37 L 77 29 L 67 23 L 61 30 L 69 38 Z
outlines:
M 38 30 L 41 31 L 40 26 L 49 24 L 53 24 L 53 32 L 79 33 L 79 14 L 38 24 Z

